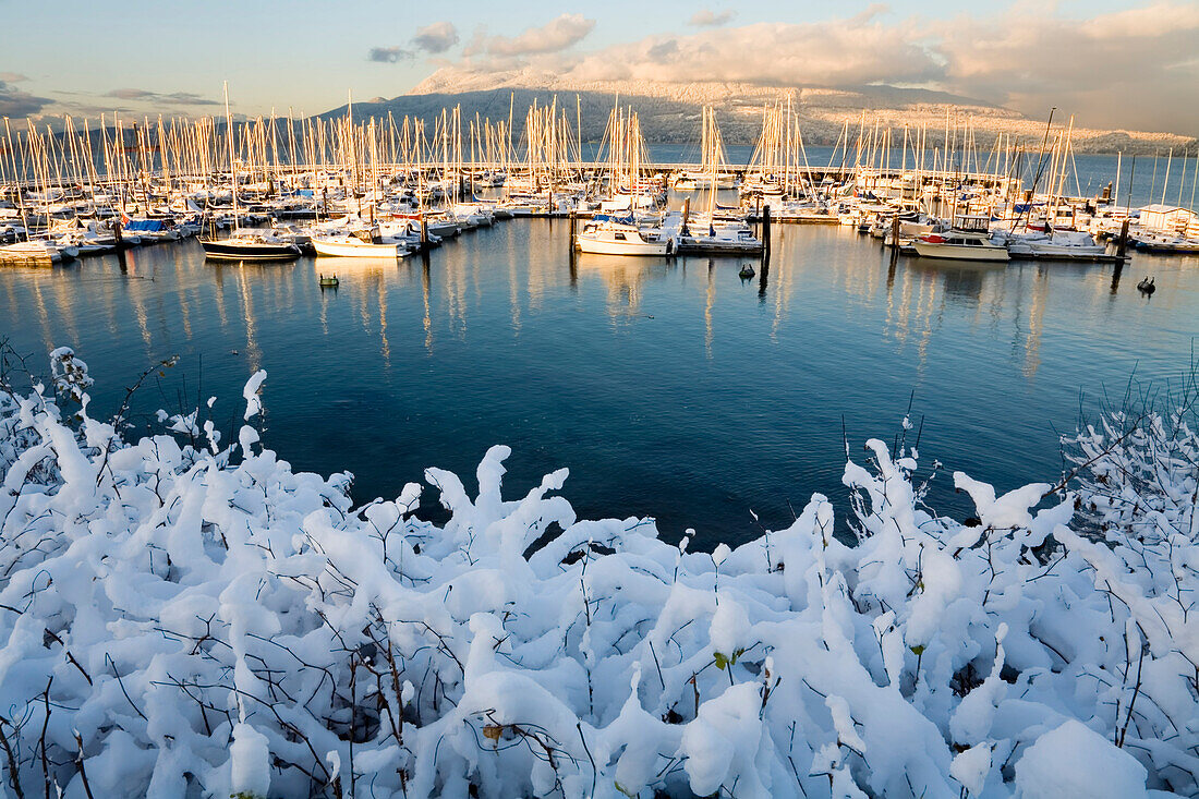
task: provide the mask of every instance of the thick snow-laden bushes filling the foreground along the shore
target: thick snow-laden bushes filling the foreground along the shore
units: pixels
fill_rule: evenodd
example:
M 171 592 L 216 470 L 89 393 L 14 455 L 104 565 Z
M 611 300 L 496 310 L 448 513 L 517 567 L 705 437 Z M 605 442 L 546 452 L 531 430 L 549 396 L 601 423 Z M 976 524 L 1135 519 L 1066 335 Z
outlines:
M 856 546 L 817 494 L 709 554 L 577 519 L 565 469 L 505 499 L 504 446 L 475 497 L 426 471 L 435 527 L 251 423 L 125 441 L 82 408 L 0 391 L 7 795 L 1199 792 L 1199 555 L 1073 531 L 1085 486 L 956 474 L 964 524 L 872 440 Z

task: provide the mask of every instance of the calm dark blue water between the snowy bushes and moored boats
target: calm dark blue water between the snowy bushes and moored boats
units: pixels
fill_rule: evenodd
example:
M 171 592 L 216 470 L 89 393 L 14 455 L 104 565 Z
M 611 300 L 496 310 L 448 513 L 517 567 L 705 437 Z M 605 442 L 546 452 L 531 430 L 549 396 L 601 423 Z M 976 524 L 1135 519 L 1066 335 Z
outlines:
M 1133 372 L 1176 377 L 1199 334 L 1195 258 L 1138 256 L 1119 283 L 1093 265 L 891 266 L 873 240 L 820 227 L 776 228 L 765 281 L 740 280 L 736 259 L 572 268 L 568 253 L 566 223 L 528 220 L 427 263 L 216 265 L 194 241 L 159 245 L 123 266 L 0 270 L 0 337 L 38 365 L 74 347 L 94 414 L 177 354 L 137 395 L 143 428 L 215 395 L 235 429 L 243 382 L 266 368 L 267 444 L 300 469 L 351 470 L 360 500 L 427 465 L 469 485 L 505 443 L 510 493 L 567 465 L 580 516 L 651 515 L 711 543 L 752 535 L 751 509 L 777 527 L 812 492 L 843 504 L 842 420 L 861 457 L 912 394 L 926 464 L 1001 489 L 1053 480 L 1080 392 L 1093 409 Z M 341 287 L 323 292 L 318 271 Z M 934 486 L 935 506 L 962 510 L 948 474 Z

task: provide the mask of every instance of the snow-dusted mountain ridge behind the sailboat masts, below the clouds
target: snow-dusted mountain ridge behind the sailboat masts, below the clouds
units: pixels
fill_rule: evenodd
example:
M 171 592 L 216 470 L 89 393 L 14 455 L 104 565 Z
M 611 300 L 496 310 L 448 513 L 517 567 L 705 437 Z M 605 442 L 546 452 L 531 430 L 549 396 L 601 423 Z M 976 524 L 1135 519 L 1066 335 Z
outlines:
M 656 80 L 579 80 L 571 76 L 523 68 L 472 71 L 445 67 L 426 78 L 405 95 L 390 100 L 376 97 L 355 103 L 355 115 L 415 115 L 428 120 L 442 108 L 460 106 L 463 118 L 476 114 L 493 120 L 507 119 L 510 112 L 519 131 L 525 110 L 559 103 L 573 122 L 582 119 L 583 137 L 603 137 L 608 113 L 619 101 L 638 112 L 641 131 L 649 142 L 692 142 L 699 136 L 699 114 L 705 104 L 715 107 L 727 144 L 752 144 L 761 128 L 764 106 L 790 101 L 809 144 L 833 144 L 848 124 L 856 137 L 860 126 L 891 126 L 918 133 L 926 130 L 927 146 L 940 145 L 946 125 L 969 125 L 978 146 L 989 146 L 1002 132 L 1035 148 L 1044 133 L 1044 119 L 1030 119 L 1014 110 L 982 100 L 928 89 L 868 85 L 854 88 L 763 86 L 748 83 Z M 345 107 L 321 114 L 339 116 Z M 1058 124 L 1068 122 L 1068 112 L 1059 112 Z M 1085 151 L 1149 151 L 1156 148 L 1185 148 L 1193 139 L 1171 133 L 1108 131 L 1076 126 L 1074 149 Z M 899 142 L 896 143 L 899 145 Z

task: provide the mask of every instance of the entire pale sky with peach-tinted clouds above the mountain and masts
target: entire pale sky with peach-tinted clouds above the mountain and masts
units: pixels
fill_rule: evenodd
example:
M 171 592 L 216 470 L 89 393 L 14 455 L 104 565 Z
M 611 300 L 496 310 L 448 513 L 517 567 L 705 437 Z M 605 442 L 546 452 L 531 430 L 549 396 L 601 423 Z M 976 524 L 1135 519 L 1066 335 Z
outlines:
M 0 116 L 307 115 L 438 70 L 888 84 L 1199 136 L 1199 0 L 0 0 Z

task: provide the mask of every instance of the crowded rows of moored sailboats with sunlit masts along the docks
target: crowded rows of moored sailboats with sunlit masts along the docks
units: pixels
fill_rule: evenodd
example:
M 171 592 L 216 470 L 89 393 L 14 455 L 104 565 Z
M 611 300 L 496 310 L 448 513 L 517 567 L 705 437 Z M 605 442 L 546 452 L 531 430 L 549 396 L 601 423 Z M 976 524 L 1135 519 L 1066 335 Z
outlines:
M 730 163 L 710 109 L 698 163 L 652 160 L 637 113 L 619 104 L 604 138 L 586 146 L 582 121 L 556 102 L 529 108 L 519 132 L 511 114 L 464 120 L 447 108 L 427 130 L 420 119 L 355 120 L 353 103 L 324 121 L 101 124 L 77 128 L 67 118 L 61 132 L 29 126 L 16 139 L 7 130 L 0 264 L 191 235 L 212 242 L 204 246 L 215 258 L 403 258 L 496 221 L 543 217 L 572 220 L 576 248 L 610 256 L 765 256 L 772 222 L 849 227 L 922 258 L 976 259 L 984 242 L 1005 259 L 1109 265 L 1131 248 L 1199 252 L 1199 158 L 1180 154 L 1171 186 L 1167 155 L 1159 203 L 1133 208 L 1135 160 L 1121 187 L 1119 156 L 1086 194 L 1073 120 L 1055 126 L 1052 114 L 1040 142 L 1000 134 L 982 146 L 969 120 L 946 118 L 938 146 L 927 124 L 881 127 L 863 113 L 856 131 L 846 121 L 831 149 L 809 157 L 797 115 L 779 102 L 763 108 L 742 164 Z

